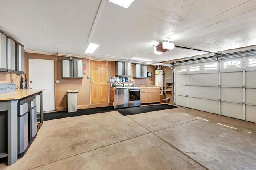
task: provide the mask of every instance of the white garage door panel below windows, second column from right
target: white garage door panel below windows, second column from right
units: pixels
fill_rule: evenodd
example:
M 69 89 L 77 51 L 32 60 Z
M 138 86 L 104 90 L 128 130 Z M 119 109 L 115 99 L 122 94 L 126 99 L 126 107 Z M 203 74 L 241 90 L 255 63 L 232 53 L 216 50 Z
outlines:
M 243 86 L 243 72 L 221 73 L 222 86 Z

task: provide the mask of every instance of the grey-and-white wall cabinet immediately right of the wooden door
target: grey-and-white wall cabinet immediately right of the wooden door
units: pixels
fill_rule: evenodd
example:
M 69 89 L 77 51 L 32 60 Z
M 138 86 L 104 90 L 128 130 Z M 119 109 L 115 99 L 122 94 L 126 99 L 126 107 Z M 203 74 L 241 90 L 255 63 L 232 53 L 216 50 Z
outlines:
M 116 62 L 116 77 L 131 77 L 131 63 Z

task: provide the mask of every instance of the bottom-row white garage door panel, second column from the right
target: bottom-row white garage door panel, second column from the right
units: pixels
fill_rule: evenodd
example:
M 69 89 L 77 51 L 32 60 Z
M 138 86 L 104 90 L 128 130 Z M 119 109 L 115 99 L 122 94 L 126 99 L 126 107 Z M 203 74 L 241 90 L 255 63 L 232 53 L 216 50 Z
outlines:
M 243 119 L 243 105 L 221 102 L 221 114 L 229 117 Z

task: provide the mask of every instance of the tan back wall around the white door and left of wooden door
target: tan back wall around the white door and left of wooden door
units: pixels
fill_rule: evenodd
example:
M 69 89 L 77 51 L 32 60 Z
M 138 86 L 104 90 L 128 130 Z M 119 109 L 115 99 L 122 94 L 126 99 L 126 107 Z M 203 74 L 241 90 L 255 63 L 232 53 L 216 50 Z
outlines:
M 90 79 L 87 79 L 87 76 L 90 76 L 89 74 L 89 59 L 81 59 L 83 60 L 84 64 L 86 64 L 86 74 L 84 75 L 84 79 L 63 79 L 62 78 L 62 62 L 57 59 L 57 56 L 52 55 L 42 55 L 42 54 L 34 54 L 34 53 L 26 53 L 25 58 L 25 67 L 26 67 L 26 73 L 28 75 L 28 59 L 48 59 L 48 60 L 54 60 L 55 63 L 55 73 L 54 73 L 54 79 L 57 79 L 57 64 L 58 64 L 58 77 L 60 80 L 60 83 L 55 83 L 55 107 L 56 111 L 63 111 L 66 110 L 67 107 L 67 95 L 66 91 L 67 89 L 78 89 L 78 109 L 85 109 L 85 108 L 91 108 L 91 107 L 102 107 L 102 106 L 108 106 L 109 103 L 100 103 L 100 104 L 93 104 L 90 105 Z M 63 57 L 65 58 L 65 57 Z M 114 73 L 115 67 L 113 67 L 114 62 L 109 61 L 109 75 L 112 75 Z M 29 79 L 28 79 L 29 82 Z M 29 83 L 28 83 L 29 84 Z

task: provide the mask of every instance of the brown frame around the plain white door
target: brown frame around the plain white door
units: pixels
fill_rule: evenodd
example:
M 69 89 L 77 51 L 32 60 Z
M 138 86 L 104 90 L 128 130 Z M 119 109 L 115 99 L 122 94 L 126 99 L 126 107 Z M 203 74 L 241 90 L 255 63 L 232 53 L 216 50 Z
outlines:
M 27 78 L 27 87 L 28 87 L 28 89 L 30 88 L 29 87 L 29 59 L 43 59 L 43 60 L 51 60 L 51 61 L 54 61 L 54 65 L 53 65 L 53 70 L 54 70 L 54 80 L 53 80 L 53 82 L 54 82 L 54 91 L 53 91 L 53 93 L 54 93 L 54 110 L 53 111 L 56 111 L 56 94 L 55 94 L 55 91 L 56 91 L 56 84 L 55 84 L 55 80 L 56 80 L 56 75 L 55 75 L 55 68 L 56 68 L 56 60 L 55 59 L 45 59 L 45 58 L 41 58 L 41 57 L 39 57 L 39 58 L 36 58 L 36 57 L 26 57 L 26 63 L 27 63 L 27 67 L 25 67 L 25 69 L 26 69 L 26 78 Z M 58 61 L 57 61 L 58 62 Z M 58 63 L 57 63 L 58 64 Z M 43 111 L 43 113 L 47 113 L 47 112 L 51 112 L 51 111 Z

